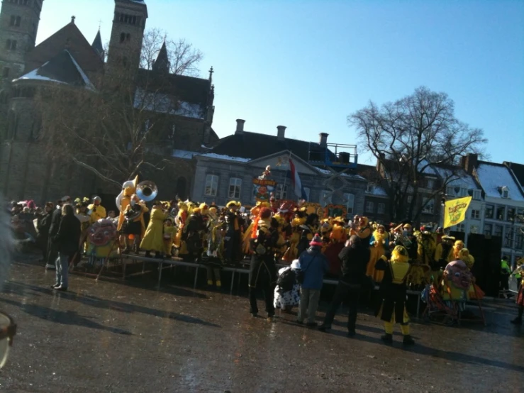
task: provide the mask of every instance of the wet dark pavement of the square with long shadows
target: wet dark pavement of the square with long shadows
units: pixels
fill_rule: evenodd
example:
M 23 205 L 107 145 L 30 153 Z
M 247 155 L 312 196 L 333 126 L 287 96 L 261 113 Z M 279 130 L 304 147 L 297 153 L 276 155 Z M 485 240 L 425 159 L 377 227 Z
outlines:
M 56 293 L 53 278 L 28 260 L 11 268 L 0 309 L 18 334 L 0 392 L 524 391 L 524 327 L 509 324 L 511 301 L 485 305 L 486 327 L 412 323 L 416 345 L 404 349 L 398 326 L 394 345 L 381 343 L 371 314 L 347 338 L 341 312 L 331 333 L 291 314 L 254 319 L 247 298 L 168 274 L 160 290 L 154 277 L 72 275 Z

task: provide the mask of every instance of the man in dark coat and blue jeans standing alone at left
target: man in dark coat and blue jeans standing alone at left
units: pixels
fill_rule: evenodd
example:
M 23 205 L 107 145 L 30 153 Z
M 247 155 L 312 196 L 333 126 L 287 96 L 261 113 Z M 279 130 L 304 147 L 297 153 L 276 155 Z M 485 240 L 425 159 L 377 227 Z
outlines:
M 58 231 L 52 240 L 58 250 L 56 260 L 56 282 L 52 288 L 57 291 L 67 291 L 67 271 L 69 270 L 69 261 L 74 257 L 80 248 L 80 221 L 74 216 L 74 209 L 71 204 L 65 204 L 62 207 L 62 218 Z

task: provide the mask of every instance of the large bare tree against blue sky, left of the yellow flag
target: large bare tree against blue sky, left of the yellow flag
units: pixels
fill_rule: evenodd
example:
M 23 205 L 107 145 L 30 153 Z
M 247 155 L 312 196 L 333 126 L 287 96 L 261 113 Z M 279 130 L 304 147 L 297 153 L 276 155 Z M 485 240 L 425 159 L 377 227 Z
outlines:
M 455 118 L 455 104 L 447 94 L 426 87 L 381 107 L 370 101 L 347 120 L 357 129 L 359 142 L 377 158 L 395 220 L 418 220 L 425 205 L 457 179 L 459 158 L 482 155 L 487 141 L 481 129 Z M 431 174 L 442 182 L 428 190 L 422 180 Z M 419 204 L 422 195 L 425 201 Z M 411 203 L 406 203 L 408 196 Z

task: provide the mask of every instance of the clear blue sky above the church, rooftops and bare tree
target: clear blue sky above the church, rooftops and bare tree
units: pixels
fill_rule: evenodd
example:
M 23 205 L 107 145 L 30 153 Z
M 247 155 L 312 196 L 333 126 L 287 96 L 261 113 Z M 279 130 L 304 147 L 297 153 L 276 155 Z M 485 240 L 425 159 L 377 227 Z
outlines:
M 91 42 L 111 0 L 45 0 L 38 42 L 72 15 Z M 483 128 L 491 160 L 524 162 L 524 1 L 149 0 L 147 27 L 186 38 L 215 70 L 213 128 L 355 143 L 347 115 L 425 85 Z M 374 164 L 359 148 L 360 162 Z

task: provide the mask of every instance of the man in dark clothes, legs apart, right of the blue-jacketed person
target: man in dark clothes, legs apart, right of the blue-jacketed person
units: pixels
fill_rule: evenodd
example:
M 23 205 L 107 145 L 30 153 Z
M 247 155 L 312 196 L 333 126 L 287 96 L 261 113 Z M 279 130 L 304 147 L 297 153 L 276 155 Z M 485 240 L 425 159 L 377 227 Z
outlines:
M 353 235 L 345 243 L 338 258 L 342 260 L 342 277 L 338 281 L 335 295 L 331 301 L 329 311 L 325 314 L 324 322 L 318 327 L 320 331 L 331 328 L 335 314 L 342 301 L 347 301 L 350 307 L 347 319 L 347 334 L 355 336 L 357 323 L 357 306 L 359 294 L 367 283 L 366 267 L 369 262 L 369 248 L 362 245 L 362 240 Z

